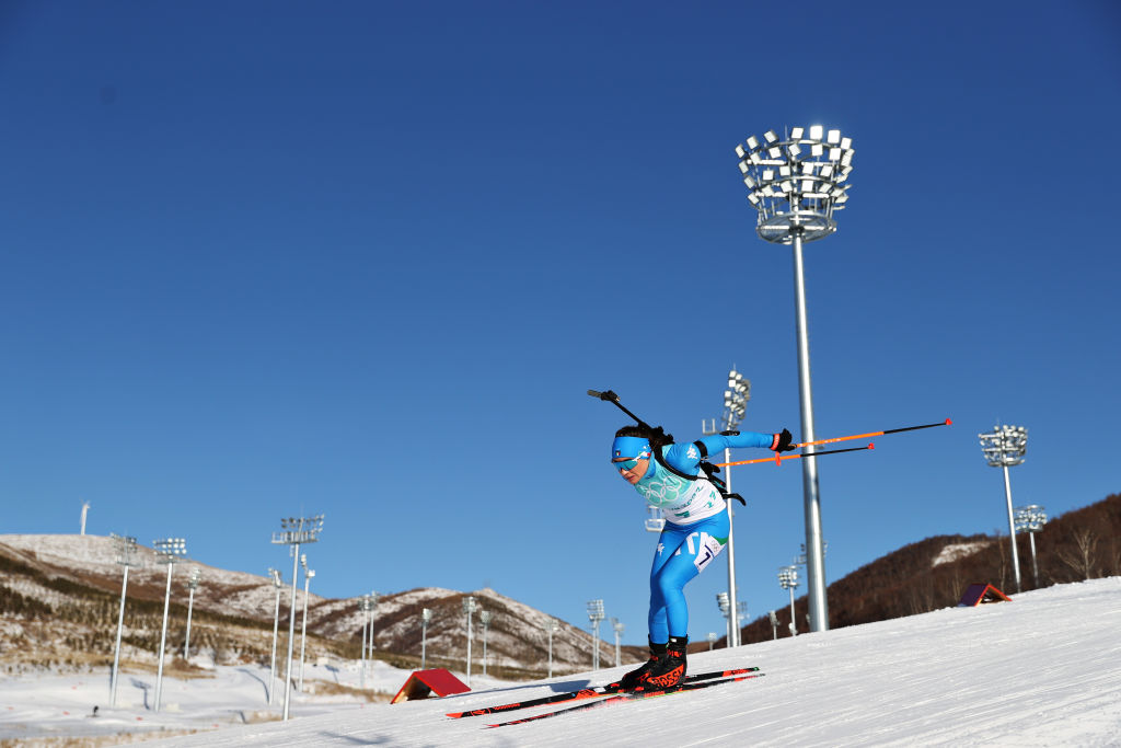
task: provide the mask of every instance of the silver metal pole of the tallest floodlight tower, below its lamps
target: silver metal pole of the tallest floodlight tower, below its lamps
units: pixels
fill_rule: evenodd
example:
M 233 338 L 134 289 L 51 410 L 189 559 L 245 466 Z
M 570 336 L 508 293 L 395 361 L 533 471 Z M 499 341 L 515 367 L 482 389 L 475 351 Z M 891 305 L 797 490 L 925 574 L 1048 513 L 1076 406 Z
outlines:
M 794 240 L 794 290 L 798 338 L 798 391 L 802 400 L 802 441 L 816 441 L 814 434 L 814 395 L 809 381 L 809 339 L 806 329 L 806 284 L 802 260 L 802 229 L 791 231 Z M 806 454 L 813 447 L 803 447 Z M 802 461 L 802 492 L 806 520 L 806 575 L 808 578 L 809 630 L 826 631 L 830 611 L 825 600 L 825 558 L 822 550 L 822 507 L 817 492 L 817 461 Z M 794 593 L 790 593 L 791 600 Z

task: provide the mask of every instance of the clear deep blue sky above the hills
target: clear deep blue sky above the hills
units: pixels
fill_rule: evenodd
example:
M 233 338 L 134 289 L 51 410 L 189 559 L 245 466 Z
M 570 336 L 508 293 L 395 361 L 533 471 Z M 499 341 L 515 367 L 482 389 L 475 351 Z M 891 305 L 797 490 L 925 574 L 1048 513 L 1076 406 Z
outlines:
M 1007 532 L 998 419 L 1029 428 L 1017 505 L 1097 501 L 1119 38 L 1104 0 L 6 3 L 0 533 L 90 501 L 90 533 L 287 574 L 279 518 L 324 512 L 321 594 L 602 598 L 643 643 L 656 536 L 585 390 L 692 440 L 735 364 L 743 428 L 797 436 L 790 251 L 733 148 L 816 123 L 856 149 L 806 247 L 817 435 L 954 421 L 821 459 L 828 580 Z M 754 617 L 802 473 L 733 483 Z

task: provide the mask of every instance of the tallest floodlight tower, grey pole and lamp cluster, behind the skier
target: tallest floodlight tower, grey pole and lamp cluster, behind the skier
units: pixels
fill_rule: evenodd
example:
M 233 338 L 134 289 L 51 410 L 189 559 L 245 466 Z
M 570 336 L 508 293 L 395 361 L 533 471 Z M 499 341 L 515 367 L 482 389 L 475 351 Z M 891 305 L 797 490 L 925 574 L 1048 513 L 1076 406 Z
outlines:
M 763 241 L 794 248 L 794 295 L 798 341 L 798 382 L 802 401 L 802 440 L 813 442 L 814 398 L 809 381 L 809 339 L 806 329 L 806 284 L 802 246 L 836 231 L 834 213 L 849 200 L 852 172 L 852 139 L 840 130 L 815 124 L 790 129 L 779 139 L 773 130 L 754 136 L 735 147 L 748 202 L 758 211 L 756 232 Z M 804 447 L 813 454 L 812 446 Z M 817 491 L 817 461 L 802 461 L 802 492 L 805 506 L 806 572 L 809 579 L 809 629 L 830 627 L 825 599 L 825 554 L 822 551 L 822 509 Z

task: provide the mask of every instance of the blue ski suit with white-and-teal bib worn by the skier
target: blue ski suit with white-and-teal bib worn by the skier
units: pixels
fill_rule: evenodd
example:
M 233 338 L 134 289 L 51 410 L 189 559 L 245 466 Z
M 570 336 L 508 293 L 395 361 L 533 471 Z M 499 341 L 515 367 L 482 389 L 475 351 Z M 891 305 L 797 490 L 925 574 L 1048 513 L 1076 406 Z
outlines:
M 770 447 L 775 438 L 773 434 L 743 432 L 732 436 L 705 436 L 698 442 L 706 454 L 714 454 L 725 447 Z M 660 450 L 663 460 L 675 470 L 698 474 L 704 455 L 697 442 L 669 444 Z M 650 640 L 661 643 L 670 636 L 687 636 L 689 611 L 684 588 L 728 544 L 728 506 L 703 474 L 694 480 L 675 475 L 652 456 L 634 489 L 661 509 L 666 518 L 650 567 Z

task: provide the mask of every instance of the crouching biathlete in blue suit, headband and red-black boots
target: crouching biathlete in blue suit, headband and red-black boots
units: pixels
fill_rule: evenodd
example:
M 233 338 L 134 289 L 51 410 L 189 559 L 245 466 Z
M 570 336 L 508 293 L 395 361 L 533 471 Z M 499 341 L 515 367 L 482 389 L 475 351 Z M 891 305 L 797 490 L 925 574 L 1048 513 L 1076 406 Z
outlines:
M 666 518 L 650 569 L 650 658 L 619 681 L 622 689 L 668 687 L 685 676 L 689 611 L 684 588 L 724 550 L 730 534 L 728 504 L 700 474 L 701 461 L 725 447 L 795 449 L 786 428 L 778 434 L 726 432 L 689 444 L 674 444 L 671 436 L 659 443 L 659 434 L 624 426 L 611 444 L 615 470 Z

